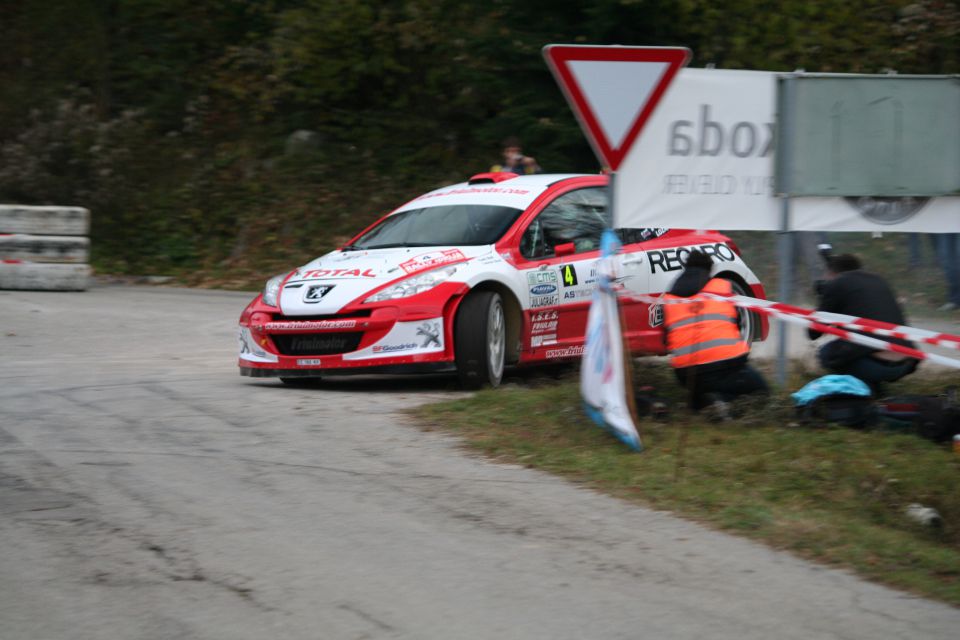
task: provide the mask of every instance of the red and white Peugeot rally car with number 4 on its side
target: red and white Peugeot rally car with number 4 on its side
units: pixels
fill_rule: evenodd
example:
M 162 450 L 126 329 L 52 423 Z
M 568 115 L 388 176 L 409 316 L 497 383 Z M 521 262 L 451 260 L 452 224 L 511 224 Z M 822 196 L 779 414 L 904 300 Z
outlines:
M 240 373 L 285 382 L 331 374 L 456 371 L 499 384 L 508 365 L 579 358 L 609 226 L 602 175 L 480 174 L 426 193 L 337 251 L 271 278 L 240 316 Z M 683 257 L 713 256 L 745 295 L 763 286 L 715 232 L 620 229 L 628 292 L 669 289 Z M 662 308 L 624 300 L 634 354 L 664 353 Z M 741 315 L 749 339 L 766 322 Z

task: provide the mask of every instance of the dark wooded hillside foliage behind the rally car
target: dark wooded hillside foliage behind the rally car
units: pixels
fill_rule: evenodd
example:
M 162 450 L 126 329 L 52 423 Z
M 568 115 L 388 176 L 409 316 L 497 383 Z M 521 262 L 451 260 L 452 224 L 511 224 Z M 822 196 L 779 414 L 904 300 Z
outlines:
M 485 170 L 508 135 L 548 170 L 596 171 L 548 43 L 960 72 L 954 0 L 22 0 L 0 38 L 0 200 L 90 206 L 118 270 L 305 258 Z M 301 129 L 316 143 L 286 155 Z

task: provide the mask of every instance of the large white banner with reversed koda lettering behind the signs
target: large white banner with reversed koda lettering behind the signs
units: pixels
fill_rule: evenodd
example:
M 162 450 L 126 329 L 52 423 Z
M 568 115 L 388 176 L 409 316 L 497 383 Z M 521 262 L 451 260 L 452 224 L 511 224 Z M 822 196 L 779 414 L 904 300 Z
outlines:
M 780 230 L 777 75 L 681 70 L 617 171 L 614 226 Z M 960 232 L 960 197 L 804 197 L 790 211 L 797 231 Z

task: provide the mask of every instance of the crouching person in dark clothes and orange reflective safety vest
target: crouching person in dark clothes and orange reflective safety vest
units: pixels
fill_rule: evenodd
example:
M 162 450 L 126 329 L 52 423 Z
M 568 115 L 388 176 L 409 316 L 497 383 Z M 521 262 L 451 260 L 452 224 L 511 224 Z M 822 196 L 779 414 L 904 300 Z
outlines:
M 750 345 L 740 335 L 732 302 L 699 298 L 677 302 L 701 292 L 733 293 L 730 281 L 711 277 L 712 267 L 710 256 L 690 252 L 683 273 L 664 295 L 664 329 L 670 364 L 680 384 L 690 390 L 693 409 L 717 405 L 725 415 L 727 402 L 749 393 L 769 393 L 769 388 L 747 362 Z

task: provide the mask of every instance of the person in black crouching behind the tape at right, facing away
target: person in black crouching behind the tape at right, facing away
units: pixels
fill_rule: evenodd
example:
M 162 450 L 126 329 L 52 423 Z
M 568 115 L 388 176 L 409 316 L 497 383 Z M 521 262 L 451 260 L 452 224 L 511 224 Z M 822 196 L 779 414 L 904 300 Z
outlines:
M 852 254 L 827 258 L 827 280 L 817 287 L 819 311 L 906 324 L 903 309 L 887 281 L 875 273 L 864 271 L 860 259 Z M 862 332 L 857 332 L 862 333 Z M 819 331 L 808 330 L 811 340 Z M 915 348 L 912 342 L 886 336 L 872 336 L 893 344 Z M 892 351 L 874 349 L 846 340 L 832 340 L 817 351 L 820 365 L 832 372 L 860 378 L 879 395 L 884 382 L 894 382 L 913 373 L 918 361 Z

